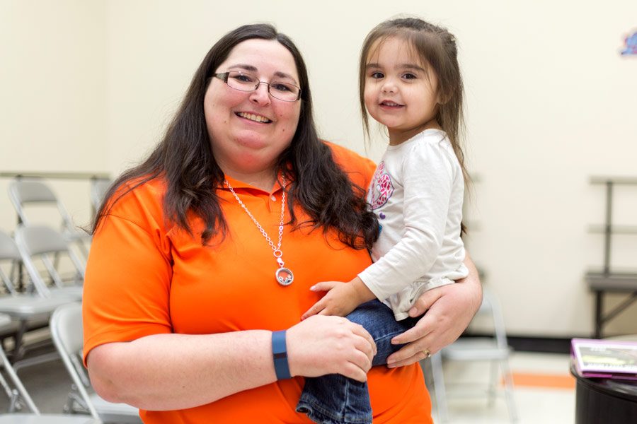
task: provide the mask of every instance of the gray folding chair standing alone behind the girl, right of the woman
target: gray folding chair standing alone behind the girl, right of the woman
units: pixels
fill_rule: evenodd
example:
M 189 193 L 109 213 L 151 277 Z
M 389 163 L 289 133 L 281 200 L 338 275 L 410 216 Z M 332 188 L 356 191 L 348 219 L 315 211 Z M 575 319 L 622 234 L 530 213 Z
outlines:
M 488 382 L 488 402 L 493 404 L 498 390 L 498 377 L 504 381 L 504 394 L 512 423 L 517 422 L 517 408 L 513 399 L 513 379 L 509 367 L 511 348 L 507 343 L 504 319 L 500 310 L 500 302 L 487 288 L 483 289 L 482 305 L 476 317 L 486 317 L 493 326 L 493 336 L 461 337 L 449 346 L 442 348 L 431 358 L 432 376 L 434 382 L 435 399 L 438 418 L 441 423 L 449 419 L 447 412 L 447 390 L 442 372 L 442 360 L 445 362 L 472 361 L 490 363 L 490 382 Z M 498 367 L 500 372 L 498 372 Z

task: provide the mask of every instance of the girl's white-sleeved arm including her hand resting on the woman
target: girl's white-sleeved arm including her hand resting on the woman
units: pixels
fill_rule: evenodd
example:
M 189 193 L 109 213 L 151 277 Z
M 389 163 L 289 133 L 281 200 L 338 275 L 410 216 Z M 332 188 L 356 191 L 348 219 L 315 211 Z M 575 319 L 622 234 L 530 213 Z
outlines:
M 454 153 L 439 143 L 415 144 L 404 154 L 399 174 L 394 184 L 403 186 L 403 204 L 395 213 L 402 214 L 404 231 L 389 225 L 383 231 L 401 231 L 400 240 L 349 283 L 314 285 L 312 290 L 327 293 L 302 319 L 313 314 L 344 317 L 363 302 L 389 298 L 432 269 L 444 237 L 449 237 L 445 234 L 447 225 L 457 225 L 459 237 L 463 187 Z M 461 242 L 457 249 L 464 250 Z

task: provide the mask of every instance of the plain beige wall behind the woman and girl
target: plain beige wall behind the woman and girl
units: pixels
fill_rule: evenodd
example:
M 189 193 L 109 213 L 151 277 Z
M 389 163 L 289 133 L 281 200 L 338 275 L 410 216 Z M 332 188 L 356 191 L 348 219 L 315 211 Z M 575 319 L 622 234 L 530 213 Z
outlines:
M 304 52 L 321 135 L 365 153 L 358 50 L 379 21 L 407 11 L 446 25 L 460 43 L 467 155 L 479 176 L 468 246 L 500 295 L 510 333 L 590 333 L 582 276 L 601 264 L 602 237 L 587 227 L 602 222 L 604 208 L 588 179 L 637 175 L 637 60 L 619 56 L 622 37 L 637 28 L 635 1 L 240 5 L 0 0 L 0 84 L 9 99 L 0 102 L 0 170 L 120 172 L 159 139 L 212 43 L 260 21 Z M 379 133 L 368 154 L 377 159 L 382 148 Z M 84 195 L 77 190 L 69 203 Z M 637 225 L 637 187 L 618 196 L 616 220 Z M 13 216 L 0 213 L 0 228 L 10 229 Z M 617 265 L 637 268 L 637 236 L 621 237 L 615 254 Z M 636 333 L 635 322 L 633 307 L 609 331 Z

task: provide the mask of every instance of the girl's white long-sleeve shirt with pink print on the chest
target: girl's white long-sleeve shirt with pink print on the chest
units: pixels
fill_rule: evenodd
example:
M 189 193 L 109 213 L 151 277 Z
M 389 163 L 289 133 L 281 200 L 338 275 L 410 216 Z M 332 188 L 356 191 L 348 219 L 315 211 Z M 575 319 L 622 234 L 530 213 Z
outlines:
M 468 275 L 463 198 L 462 170 L 444 131 L 426 129 L 387 148 L 367 191 L 381 232 L 374 264 L 359 277 L 396 319 L 408 317 L 425 291 Z

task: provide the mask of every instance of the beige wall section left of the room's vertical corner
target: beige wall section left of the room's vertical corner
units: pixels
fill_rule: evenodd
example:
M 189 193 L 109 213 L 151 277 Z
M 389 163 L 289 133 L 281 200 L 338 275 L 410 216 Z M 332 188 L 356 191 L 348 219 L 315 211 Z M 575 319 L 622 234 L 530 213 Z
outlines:
M 0 0 L 0 172 L 108 172 L 102 1 Z M 0 179 L 0 229 L 16 218 Z M 86 182 L 59 182 L 79 223 Z

